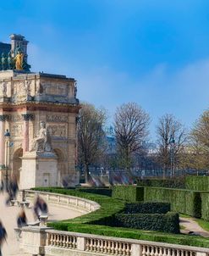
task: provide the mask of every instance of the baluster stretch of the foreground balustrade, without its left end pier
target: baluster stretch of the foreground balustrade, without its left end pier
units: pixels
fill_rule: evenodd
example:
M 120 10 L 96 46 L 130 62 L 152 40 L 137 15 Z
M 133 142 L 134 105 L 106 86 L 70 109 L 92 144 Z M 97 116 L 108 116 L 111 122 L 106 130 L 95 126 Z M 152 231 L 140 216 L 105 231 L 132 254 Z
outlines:
M 50 248 L 62 248 L 66 249 L 66 252 L 69 250 L 83 251 L 86 255 L 93 253 L 115 256 L 209 256 L 208 248 L 162 242 L 102 237 L 67 231 L 47 231 L 47 237 L 47 252 L 51 252 Z M 46 255 L 55 254 L 47 253 Z

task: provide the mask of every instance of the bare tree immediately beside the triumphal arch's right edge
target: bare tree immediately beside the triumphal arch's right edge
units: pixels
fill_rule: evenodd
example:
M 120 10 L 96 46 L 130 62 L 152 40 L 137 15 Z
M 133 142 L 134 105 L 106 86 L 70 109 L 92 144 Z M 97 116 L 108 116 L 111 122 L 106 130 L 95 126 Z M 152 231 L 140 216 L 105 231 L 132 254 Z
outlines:
M 105 151 L 103 125 L 106 120 L 105 109 L 96 109 L 89 103 L 82 104 L 78 121 L 78 156 L 79 163 L 85 169 L 85 182 L 89 181 L 90 164 L 98 163 Z

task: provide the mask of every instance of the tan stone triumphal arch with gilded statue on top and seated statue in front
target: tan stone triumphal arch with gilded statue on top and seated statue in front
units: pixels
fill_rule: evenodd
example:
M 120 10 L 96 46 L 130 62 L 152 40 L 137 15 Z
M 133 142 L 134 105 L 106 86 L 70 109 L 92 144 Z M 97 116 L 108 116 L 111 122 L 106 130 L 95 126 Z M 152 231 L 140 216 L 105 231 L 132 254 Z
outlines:
M 30 72 L 28 42 L 10 38 L 10 44 L 0 43 L 0 178 L 15 175 L 21 188 L 71 186 L 80 109 L 76 81 Z

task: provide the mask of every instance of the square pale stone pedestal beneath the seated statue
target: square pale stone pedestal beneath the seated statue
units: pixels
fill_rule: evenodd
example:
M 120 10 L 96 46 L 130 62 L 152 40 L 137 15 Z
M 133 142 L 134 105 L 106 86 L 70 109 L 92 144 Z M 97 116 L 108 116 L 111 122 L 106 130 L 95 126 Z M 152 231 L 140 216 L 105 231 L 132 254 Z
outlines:
M 25 152 L 20 171 L 20 188 L 58 186 L 58 159 L 52 152 Z

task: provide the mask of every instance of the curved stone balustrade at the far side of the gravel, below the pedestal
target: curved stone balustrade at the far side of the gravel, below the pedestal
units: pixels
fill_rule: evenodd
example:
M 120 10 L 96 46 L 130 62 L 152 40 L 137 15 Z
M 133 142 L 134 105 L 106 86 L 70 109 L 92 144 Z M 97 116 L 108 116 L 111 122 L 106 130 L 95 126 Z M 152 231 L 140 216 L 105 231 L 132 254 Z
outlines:
M 24 193 L 24 195 L 22 195 L 23 201 L 33 201 L 33 199 L 36 197 L 36 194 L 38 193 L 47 201 L 47 203 L 59 205 L 63 208 L 76 209 L 81 213 L 90 213 L 96 209 L 100 209 L 100 205 L 98 203 L 85 198 L 77 198 L 69 195 L 33 190 L 25 190 L 22 193 Z

